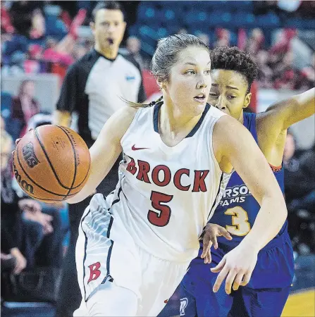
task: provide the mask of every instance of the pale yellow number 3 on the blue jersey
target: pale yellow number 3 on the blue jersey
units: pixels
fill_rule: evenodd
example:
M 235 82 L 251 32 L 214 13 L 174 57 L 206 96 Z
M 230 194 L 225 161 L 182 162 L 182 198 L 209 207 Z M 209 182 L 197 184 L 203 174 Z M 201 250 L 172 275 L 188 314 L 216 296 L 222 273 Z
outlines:
M 250 230 L 250 224 L 247 221 L 247 212 L 240 206 L 228 209 L 226 215 L 232 216 L 232 225 L 226 225 L 226 230 L 232 235 L 247 235 Z

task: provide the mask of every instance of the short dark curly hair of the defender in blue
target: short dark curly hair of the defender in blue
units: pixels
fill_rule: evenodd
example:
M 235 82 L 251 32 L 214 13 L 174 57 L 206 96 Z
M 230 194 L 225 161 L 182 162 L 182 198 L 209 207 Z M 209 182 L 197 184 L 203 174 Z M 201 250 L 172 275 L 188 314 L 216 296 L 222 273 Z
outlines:
M 257 77 L 258 66 L 252 56 L 245 51 L 233 47 L 216 47 L 210 51 L 211 69 L 235 70 L 247 81 L 247 94 Z

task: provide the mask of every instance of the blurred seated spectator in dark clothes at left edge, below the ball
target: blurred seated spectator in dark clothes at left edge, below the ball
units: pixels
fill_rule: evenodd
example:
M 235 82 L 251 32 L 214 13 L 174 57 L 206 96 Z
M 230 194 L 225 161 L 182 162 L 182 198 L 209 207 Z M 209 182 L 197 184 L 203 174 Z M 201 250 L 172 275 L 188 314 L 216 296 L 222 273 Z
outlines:
M 14 273 L 25 267 L 61 266 L 61 220 L 54 207 L 21 199 L 12 187 L 13 140 L 1 130 L 1 256 Z M 10 268 L 10 267 L 9 267 Z

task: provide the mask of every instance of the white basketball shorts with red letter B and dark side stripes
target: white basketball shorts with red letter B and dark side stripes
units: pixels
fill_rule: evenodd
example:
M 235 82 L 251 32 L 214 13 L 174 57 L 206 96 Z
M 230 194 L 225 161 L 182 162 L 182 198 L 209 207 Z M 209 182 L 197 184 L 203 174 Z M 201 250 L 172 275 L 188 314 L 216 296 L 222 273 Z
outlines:
M 149 238 L 149 237 L 148 237 Z M 78 281 L 82 304 L 74 316 L 117 316 L 115 313 L 124 303 L 125 292 L 136 296 L 137 313 L 125 316 L 156 316 L 166 305 L 183 279 L 190 264 L 159 259 L 140 249 L 125 229 L 121 219 L 113 216 L 109 203 L 102 194 L 95 194 L 82 216 L 75 250 Z M 112 292 L 111 305 L 106 305 L 99 315 L 90 315 L 87 302 L 102 285 L 112 283 L 106 290 Z M 94 297 L 96 298 L 96 297 Z M 129 300 L 129 299 L 128 299 Z M 113 311 L 106 311 L 106 307 Z M 103 313 L 103 315 L 101 315 Z

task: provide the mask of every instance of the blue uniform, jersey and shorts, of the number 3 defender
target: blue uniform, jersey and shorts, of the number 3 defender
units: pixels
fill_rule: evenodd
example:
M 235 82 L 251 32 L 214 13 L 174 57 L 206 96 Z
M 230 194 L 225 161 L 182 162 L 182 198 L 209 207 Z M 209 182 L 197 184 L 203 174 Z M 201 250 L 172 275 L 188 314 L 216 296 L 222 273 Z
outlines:
M 244 125 L 257 142 L 256 114 L 244 113 Z M 273 168 L 283 191 L 283 170 Z M 228 251 L 235 248 L 254 225 L 260 206 L 237 173 L 230 177 L 226 192 L 210 222 L 226 228 L 233 240 L 218 237 L 218 249 L 211 248 L 211 263 L 204 264 L 199 256 L 192 260 L 180 284 L 180 316 L 280 316 L 290 292 L 294 276 L 294 259 L 288 223 L 278 235 L 261 249 L 252 277 L 245 287 L 226 294 L 224 286 L 214 293 L 217 266 Z M 274 213 L 277 210 L 273 211 Z M 272 219 L 271 219 L 272 221 Z

